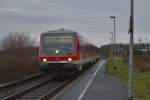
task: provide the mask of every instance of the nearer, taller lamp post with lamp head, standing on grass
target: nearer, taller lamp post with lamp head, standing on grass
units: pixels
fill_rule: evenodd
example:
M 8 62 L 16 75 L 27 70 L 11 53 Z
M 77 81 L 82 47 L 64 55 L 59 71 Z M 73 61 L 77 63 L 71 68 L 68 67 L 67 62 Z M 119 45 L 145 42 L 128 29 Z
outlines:
M 109 18 L 114 19 L 114 45 L 113 45 L 113 53 L 114 53 L 114 65 L 113 67 L 116 68 L 115 65 L 115 56 L 116 56 L 116 17 L 115 16 L 110 16 Z

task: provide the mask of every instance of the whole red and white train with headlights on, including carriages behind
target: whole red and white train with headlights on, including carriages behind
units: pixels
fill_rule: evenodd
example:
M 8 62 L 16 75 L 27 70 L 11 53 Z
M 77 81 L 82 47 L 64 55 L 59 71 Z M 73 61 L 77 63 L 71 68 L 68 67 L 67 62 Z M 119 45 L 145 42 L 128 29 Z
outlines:
M 100 57 L 99 48 L 77 32 L 59 29 L 41 34 L 39 59 L 44 71 L 82 70 Z

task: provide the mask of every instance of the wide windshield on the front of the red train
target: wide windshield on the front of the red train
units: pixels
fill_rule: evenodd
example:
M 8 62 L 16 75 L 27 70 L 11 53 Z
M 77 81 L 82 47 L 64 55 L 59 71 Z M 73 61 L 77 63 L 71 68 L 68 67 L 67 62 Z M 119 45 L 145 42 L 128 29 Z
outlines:
M 43 39 L 43 54 L 69 55 L 72 54 L 72 36 L 51 36 Z

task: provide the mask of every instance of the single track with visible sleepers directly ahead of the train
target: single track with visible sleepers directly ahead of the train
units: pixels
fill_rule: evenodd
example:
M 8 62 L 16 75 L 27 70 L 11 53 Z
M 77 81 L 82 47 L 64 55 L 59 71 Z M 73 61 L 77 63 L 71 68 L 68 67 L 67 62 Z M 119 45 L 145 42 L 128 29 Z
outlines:
M 58 82 L 50 79 L 41 84 L 4 98 L 3 100 L 46 100 L 49 98 L 49 96 L 54 95 L 68 83 L 69 81 L 67 80 Z

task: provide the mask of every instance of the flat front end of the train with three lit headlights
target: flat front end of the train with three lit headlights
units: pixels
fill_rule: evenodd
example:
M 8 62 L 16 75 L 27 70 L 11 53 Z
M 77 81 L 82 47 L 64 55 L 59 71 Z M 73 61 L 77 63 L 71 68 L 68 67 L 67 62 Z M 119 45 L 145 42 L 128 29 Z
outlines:
M 46 72 L 72 70 L 79 59 L 76 34 L 65 30 L 48 31 L 40 38 L 40 68 Z

